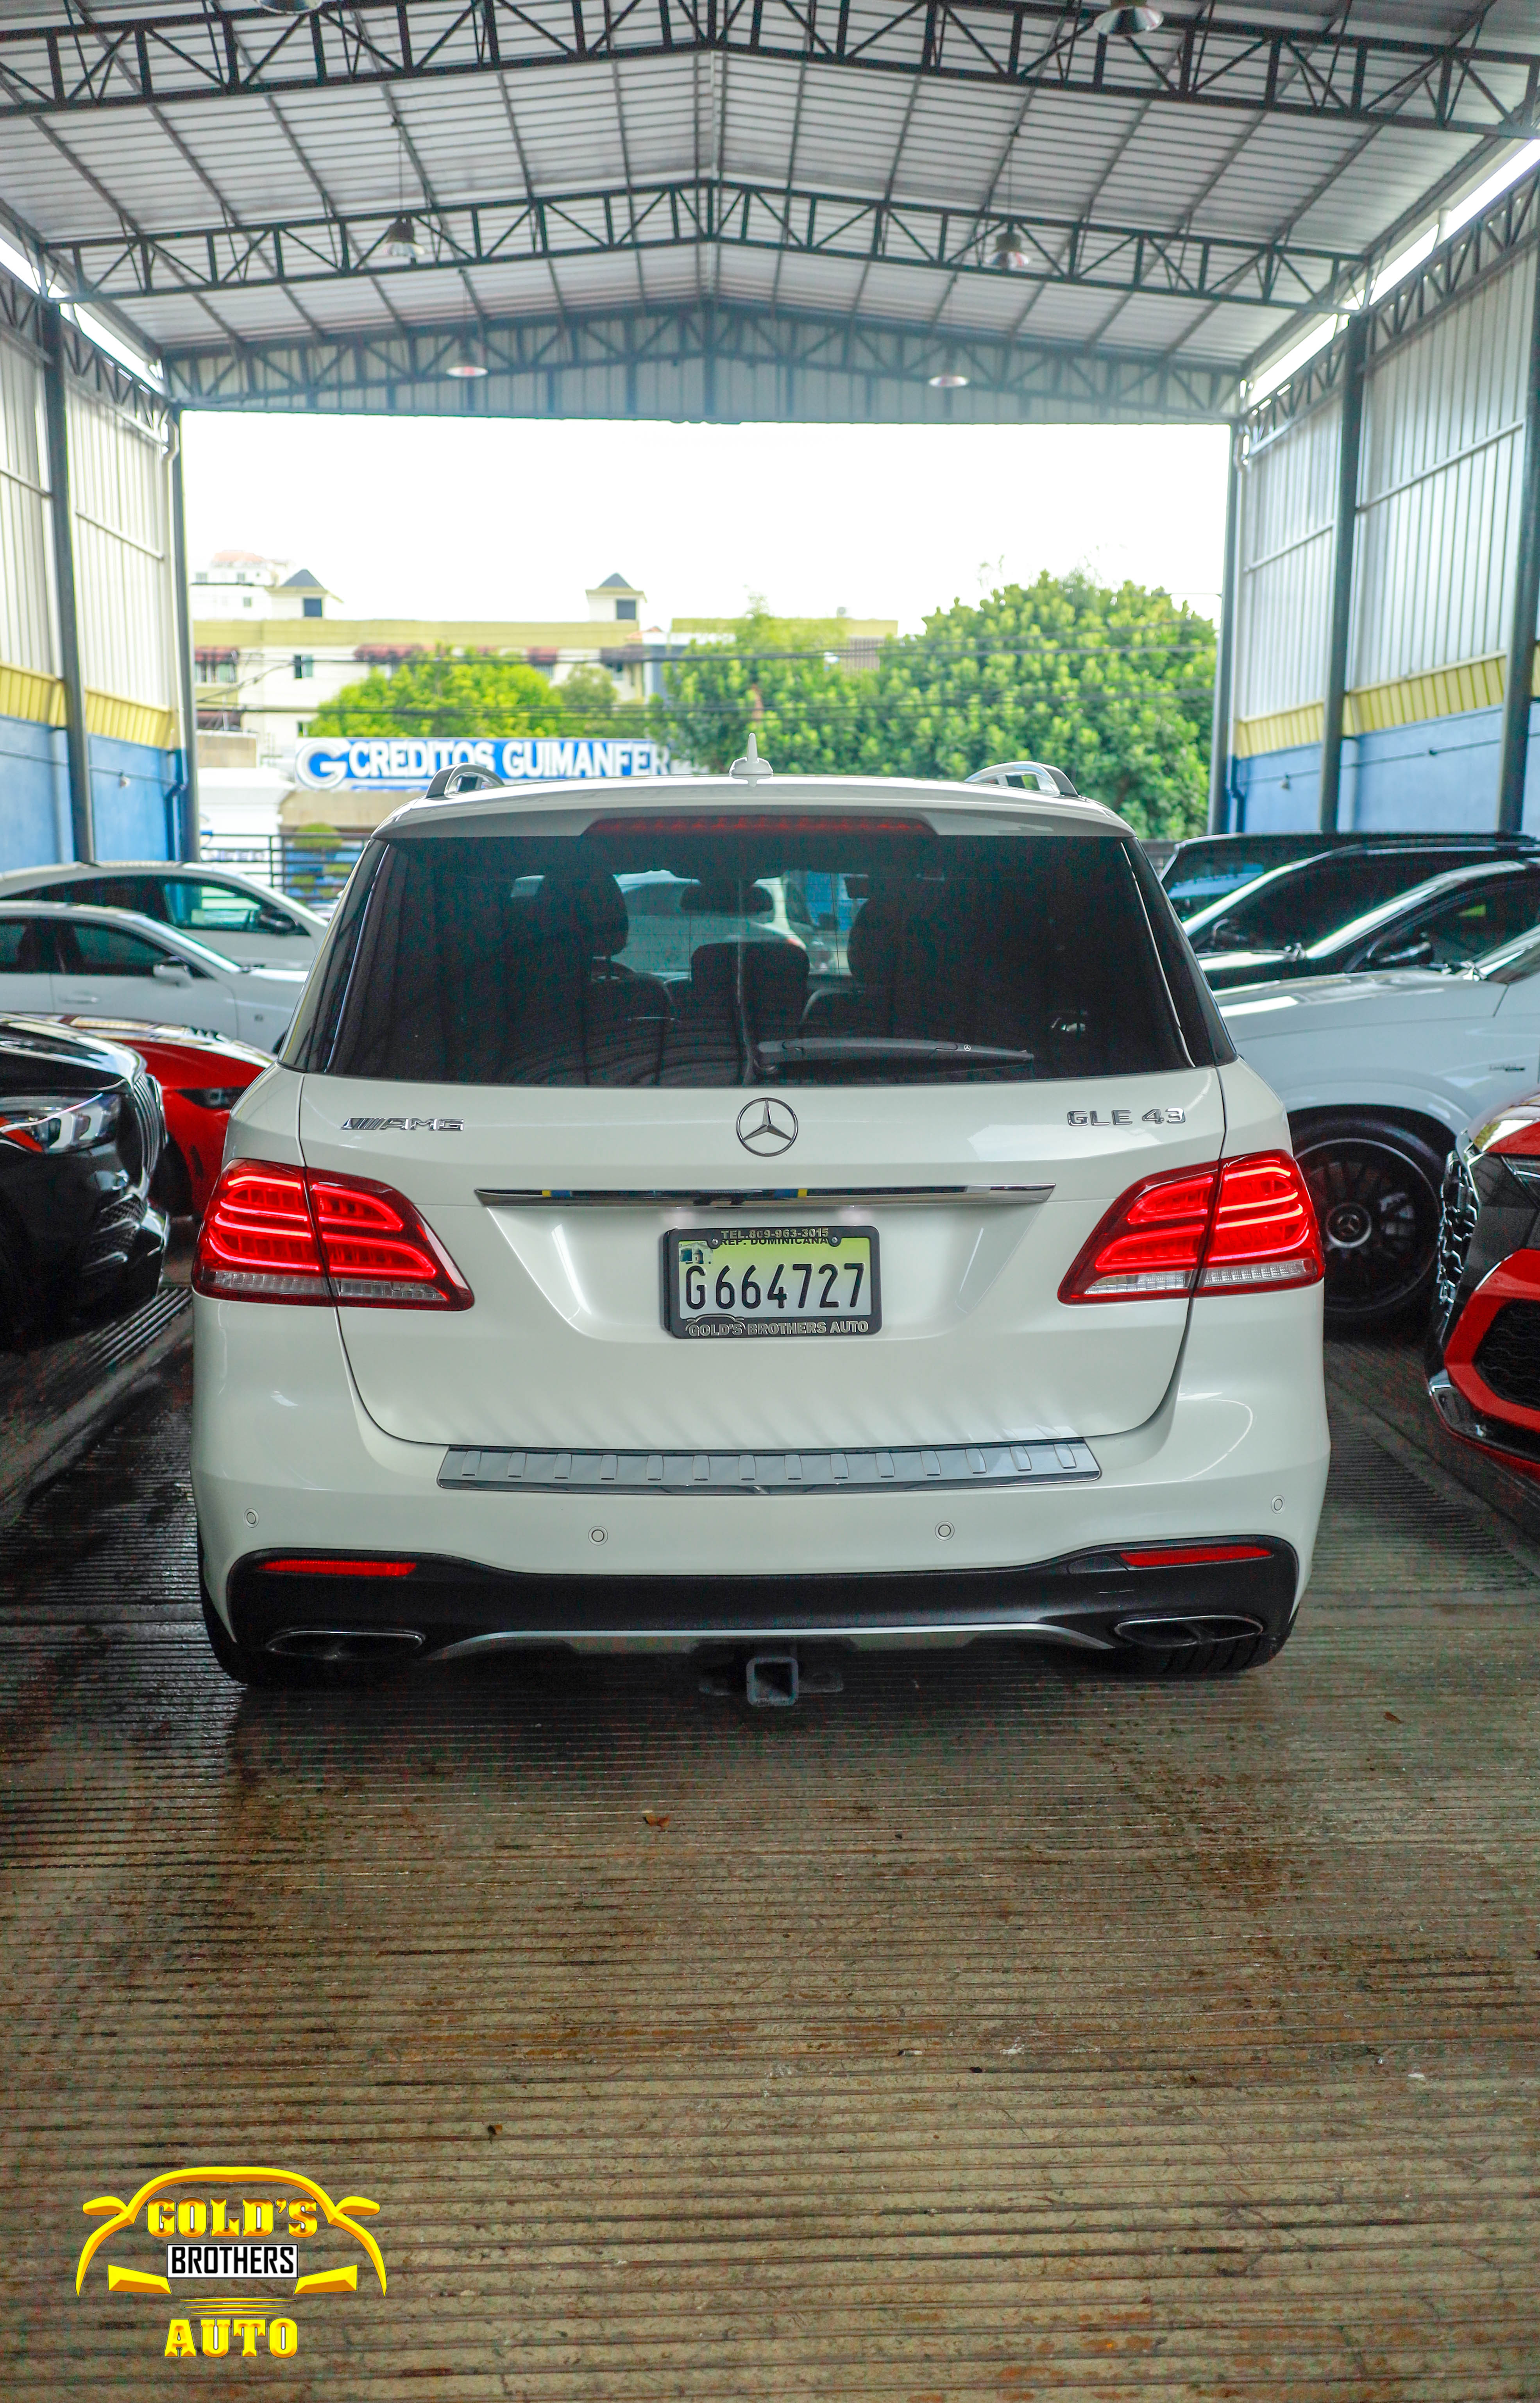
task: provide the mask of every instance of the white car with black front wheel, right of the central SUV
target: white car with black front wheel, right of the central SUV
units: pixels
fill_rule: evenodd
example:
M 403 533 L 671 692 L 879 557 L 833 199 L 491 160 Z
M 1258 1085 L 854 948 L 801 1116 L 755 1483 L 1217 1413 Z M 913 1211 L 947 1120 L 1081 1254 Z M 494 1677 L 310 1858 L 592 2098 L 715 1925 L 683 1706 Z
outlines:
M 1405 1314 L 1432 1283 L 1456 1134 L 1540 1081 L 1540 935 L 1454 976 L 1242 985 L 1218 1004 L 1288 1110 L 1326 1247 L 1329 1324 Z

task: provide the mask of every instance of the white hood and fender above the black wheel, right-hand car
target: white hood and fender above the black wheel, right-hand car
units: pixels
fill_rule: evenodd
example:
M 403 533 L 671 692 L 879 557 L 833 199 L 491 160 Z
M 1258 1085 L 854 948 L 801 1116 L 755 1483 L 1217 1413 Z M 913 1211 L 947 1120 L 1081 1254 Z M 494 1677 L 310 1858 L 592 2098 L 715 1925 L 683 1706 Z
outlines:
M 1240 1055 L 1290 1115 L 1415 1113 L 1456 1137 L 1473 1117 L 1530 1093 L 1540 1077 L 1540 947 L 1523 937 L 1492 959 L 1526 947 L 1535 949 L 1535 971 L 1514 983 L 1391 968 L 1237 985 L 1218 995 L 1218 1009 Z

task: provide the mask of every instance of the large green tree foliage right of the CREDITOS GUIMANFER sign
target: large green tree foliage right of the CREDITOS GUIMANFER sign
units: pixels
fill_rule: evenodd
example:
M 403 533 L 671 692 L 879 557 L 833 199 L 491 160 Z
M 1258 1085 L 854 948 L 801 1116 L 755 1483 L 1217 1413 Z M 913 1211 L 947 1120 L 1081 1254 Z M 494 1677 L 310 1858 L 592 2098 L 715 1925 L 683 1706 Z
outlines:
M 665 673 L 658 731 L 723 769 L 750 726 L 800 774 L 971 776 L 992 759 L 1050 759 L 1139 834 L 1192 834 L 1206 815 L 1213 627 L 1163 591 L 1086 574 L 956 601 L 875 668 L 781 639 L 752 608 L 728 644 Z

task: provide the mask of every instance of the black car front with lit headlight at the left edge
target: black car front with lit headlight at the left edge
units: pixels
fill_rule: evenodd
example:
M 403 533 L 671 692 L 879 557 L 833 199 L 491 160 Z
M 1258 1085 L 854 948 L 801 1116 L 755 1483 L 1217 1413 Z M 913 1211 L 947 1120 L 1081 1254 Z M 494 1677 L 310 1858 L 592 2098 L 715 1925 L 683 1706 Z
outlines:
M 149 1300 L 166 1259 L 149 1197 L 161 1137 L 161 1096 L 132 1053 L 0 1019 L 0 1341 Z

